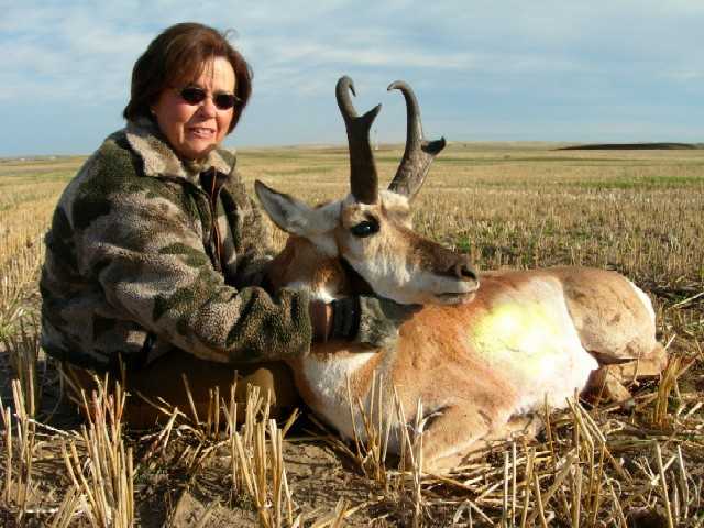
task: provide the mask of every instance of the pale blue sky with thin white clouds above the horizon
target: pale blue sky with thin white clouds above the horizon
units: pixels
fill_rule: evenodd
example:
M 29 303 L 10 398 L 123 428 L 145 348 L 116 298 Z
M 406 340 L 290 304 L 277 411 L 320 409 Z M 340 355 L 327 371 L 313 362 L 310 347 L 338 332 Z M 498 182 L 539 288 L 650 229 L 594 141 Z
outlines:
M 704 142 L 704 1 L 0 0 L 0 156 L 87 154 L 123 125 L 132 65 L 164 28 L 234 29 L 254 96 L 233 146 L 344 143 L 343 74 L 381 141 L 403 78 L 428 138 Z

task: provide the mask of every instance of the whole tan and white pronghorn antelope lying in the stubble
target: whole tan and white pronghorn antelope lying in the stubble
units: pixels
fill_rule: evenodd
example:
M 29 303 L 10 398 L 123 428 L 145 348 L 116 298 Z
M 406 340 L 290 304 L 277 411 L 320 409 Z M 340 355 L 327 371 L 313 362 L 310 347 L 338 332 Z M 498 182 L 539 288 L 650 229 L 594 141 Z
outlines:
M 424 458 L 427 469 L 441 470 L 531 424 L 546 399 L 565 407 L 575 392 L 603 384 L 607 369 L 625 374 L 637 362 L 639 373 L 657 375 L 666 353 L 656 340 L 654 312 L 624 276 L 558 267 L 490 272 L 477 280 L 464 255 L 410 229 L 410 202 L 444 140 L 425 141 L 413 91 L 403 81 L 392 88 L 406 99 L 408 123 L 388 190 L 378 191 L 369 142 L 381 106 L 358 117 L 346 77 L 337 98 L 348 130 L 351 194 L 310 208 L 255 185 L 272 220 L 289 233 L 272 266 L 274 287 L 305 287 L 326 300 L 371 289 L 425 305 L 400 328 L 393 349 L 326 343 L 293 364 L 308 406 L 351 438 L 348 376 L 352 397 L 369 404 L 373 375 L 382 373 L 406 409 L 420 398 L 432 416 Z M 617 396 L 627 397 L 620 388 Z

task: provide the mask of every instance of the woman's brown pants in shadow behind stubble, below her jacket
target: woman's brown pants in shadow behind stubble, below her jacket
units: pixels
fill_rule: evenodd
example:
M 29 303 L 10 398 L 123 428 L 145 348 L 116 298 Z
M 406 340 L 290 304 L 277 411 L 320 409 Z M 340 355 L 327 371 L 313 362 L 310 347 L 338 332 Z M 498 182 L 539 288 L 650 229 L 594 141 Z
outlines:
M 69 396 L 75 402 L 81 402 L 79 394 L 81 389 L 89 396 L 96 388 L 91 371 L 67 363 L 62 366 L 62 370 L 68 377 Z M 125 403 L 123 422 L 134 429 L 146 429 L 168 420 L 167 415 L 141 398 L 140 394 L 152 402 L 162 398 L 191 417 L 183 374 L 188 378 L 198 417 L 205 421 L 210 405 L 210 392 L 218 387 L 220 398 L 229 403 L 230 386 L 234 382 L 235 372 L 238 374 L 235 400 L 240 404 L 238 407 L 241 410 L 244 410 L 248 385 L 258 386 L 264 397 L 266 392 L 271 394 L 273 417 L 286 417 L 289 411 L 300 405 L 292 372 L 282 362 L 232 365 L 199 360 L 195 355 L 174 350 L 145 369 L 125 374 L 124 385 L 130 396 Z M 221 422 L 223 422 L 222 419 Z

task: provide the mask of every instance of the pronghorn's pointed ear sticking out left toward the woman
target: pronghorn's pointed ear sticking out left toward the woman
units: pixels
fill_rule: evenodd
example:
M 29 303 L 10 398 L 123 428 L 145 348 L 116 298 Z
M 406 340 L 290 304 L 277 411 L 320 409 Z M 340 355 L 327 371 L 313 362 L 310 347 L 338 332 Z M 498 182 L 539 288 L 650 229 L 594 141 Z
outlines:
M 272 221 L 287 233 L 311 238 L 332 230 L 337 224 L 326 208 L 314 209 L 258 179 L 254 182 L 254 190 Z

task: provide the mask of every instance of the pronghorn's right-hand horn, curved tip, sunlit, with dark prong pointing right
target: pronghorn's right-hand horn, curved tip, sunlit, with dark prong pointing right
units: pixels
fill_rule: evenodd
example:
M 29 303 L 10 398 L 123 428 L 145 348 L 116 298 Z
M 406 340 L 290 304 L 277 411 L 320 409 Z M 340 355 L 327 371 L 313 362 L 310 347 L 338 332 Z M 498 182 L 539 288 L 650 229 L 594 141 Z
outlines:
M 430 142 L 424 139 L 418 100 L 406 81 L 396 80 L 387 89 L 398 89 L 404 95 L 407 120 L 406 150 L 388 189 L 413 200 L 422 187 L 432 161 L 444 148 L 446 141 L 444 138 Z

